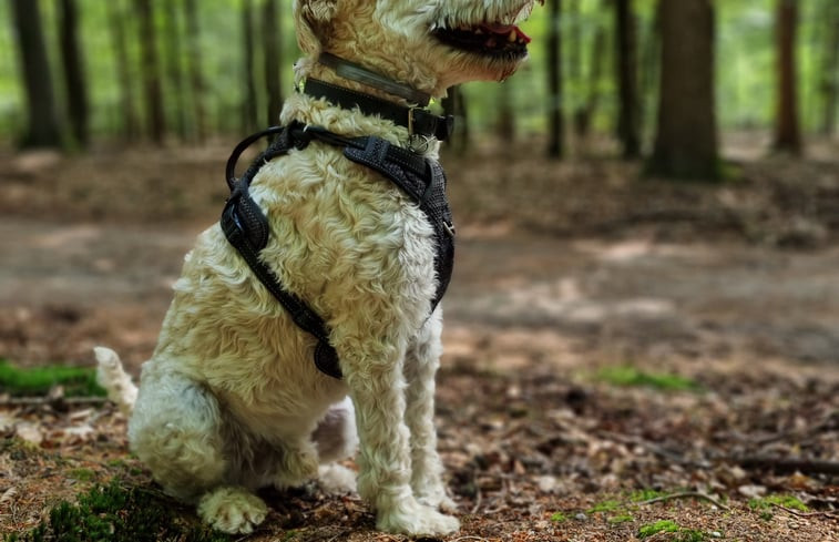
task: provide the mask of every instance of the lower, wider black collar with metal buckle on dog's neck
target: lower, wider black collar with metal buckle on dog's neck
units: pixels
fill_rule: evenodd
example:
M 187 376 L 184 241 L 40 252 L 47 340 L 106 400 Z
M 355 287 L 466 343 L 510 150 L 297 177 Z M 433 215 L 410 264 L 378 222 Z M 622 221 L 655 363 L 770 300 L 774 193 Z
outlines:
M 311 98 L 323 98 L 342 109 L 358 108 L 366 115 L 379 115 L 407 127 L 411 136 L 420 135 L 446 141 L 454 126 L 454 117 L 451 115 L 439 116 L 420 108 L 406 108 L 317 79 L 307 79 L 303 92 Z

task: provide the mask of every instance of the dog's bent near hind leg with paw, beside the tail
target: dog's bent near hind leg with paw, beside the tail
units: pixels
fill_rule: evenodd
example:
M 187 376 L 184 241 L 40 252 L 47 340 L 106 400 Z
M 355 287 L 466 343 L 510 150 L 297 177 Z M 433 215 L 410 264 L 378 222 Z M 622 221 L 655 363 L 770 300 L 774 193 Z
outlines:
M 167 493 L 197 502 L 205 522 L 228 533 L 253 531 L 267 507 L 231 477 L 237 459 L 224 448 L 218 401 L 197 382 L 153 364 L 143 369 L 129 422 L 132 450 Z

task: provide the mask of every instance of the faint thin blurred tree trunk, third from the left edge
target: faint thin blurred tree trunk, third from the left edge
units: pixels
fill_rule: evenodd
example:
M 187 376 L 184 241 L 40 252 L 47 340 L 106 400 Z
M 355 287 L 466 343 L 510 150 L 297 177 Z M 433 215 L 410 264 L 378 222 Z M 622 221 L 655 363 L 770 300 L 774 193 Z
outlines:
M 110 0 L 105 6 L 108 6 L 108 27 L 115 57 L 114 76 L 120 85 L 119 112 L 122 119 L 120 130 L 126 140 L 132 141 L 141 135 L 141 122 L 134 94 L 134 75 L 129 69 L 131 62 L 125 41 L 127 34 L 125 27 L 126 10 L 121 0 Z

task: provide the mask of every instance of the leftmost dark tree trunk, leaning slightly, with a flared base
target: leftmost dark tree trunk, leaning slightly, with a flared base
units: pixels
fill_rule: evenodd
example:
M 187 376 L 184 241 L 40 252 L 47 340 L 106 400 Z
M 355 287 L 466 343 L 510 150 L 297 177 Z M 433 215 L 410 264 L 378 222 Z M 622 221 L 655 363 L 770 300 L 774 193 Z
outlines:
M 18 35 L 28 112 L 28 125 L 20 144 L 24 147 L 61 146 L 61 130 L 38 2 L 13 0 L 12 21 Z

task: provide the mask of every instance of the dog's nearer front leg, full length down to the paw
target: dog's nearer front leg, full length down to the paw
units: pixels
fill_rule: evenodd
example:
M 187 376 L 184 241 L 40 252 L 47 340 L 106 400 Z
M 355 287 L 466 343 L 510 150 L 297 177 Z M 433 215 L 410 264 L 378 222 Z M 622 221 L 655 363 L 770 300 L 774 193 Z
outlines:
M 420 503 L 411 490 L 402 372 L 406 344 L 376 341 L 344 356 L 360 439 L 358 491 L 376 509 L 376 525 L 382 531 L 446 534 L 459 529 L 458 520 Z

